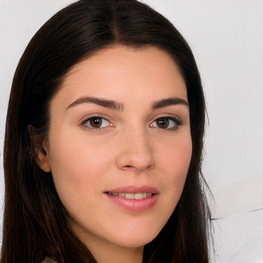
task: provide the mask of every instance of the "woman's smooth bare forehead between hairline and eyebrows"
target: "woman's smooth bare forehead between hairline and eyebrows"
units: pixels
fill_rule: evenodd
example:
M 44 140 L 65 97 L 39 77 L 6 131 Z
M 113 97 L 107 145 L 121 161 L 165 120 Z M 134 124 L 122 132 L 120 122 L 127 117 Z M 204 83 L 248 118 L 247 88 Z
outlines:
M 186 86 L 175 61 L 156 47 L 116 46 L 96 52 L 73 66 L 60 91 L 67 104 L 81 96 L 139 103 L 165 97 L 187 101 Z

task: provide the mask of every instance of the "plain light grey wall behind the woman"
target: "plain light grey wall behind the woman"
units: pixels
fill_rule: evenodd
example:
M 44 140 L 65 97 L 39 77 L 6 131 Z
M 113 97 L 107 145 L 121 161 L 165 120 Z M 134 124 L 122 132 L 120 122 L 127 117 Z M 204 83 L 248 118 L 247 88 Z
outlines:
M 0 0 L 0 201 L 12 77 L 26 45 L 72 0 Z M 207 100 L 204 175 L 215 202 L 213 262 L 263 262 L 263 1 L 147 0 L 194 52 Z M 0 206 L 1 212 L 2 205 Z M 3 212 L 0 213 L 2 224 Z M 0 225 L 1 227 L 1 225 Z

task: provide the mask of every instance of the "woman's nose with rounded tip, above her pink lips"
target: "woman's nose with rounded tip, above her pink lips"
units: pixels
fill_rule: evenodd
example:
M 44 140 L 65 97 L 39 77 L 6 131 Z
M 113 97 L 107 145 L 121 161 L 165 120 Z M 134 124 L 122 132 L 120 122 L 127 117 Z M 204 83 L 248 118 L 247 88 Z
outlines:
M 123 132 L 118 142 L 117 166 L 121 170 L 141 172 L 155 167 L 155 158 L 145 130 Z

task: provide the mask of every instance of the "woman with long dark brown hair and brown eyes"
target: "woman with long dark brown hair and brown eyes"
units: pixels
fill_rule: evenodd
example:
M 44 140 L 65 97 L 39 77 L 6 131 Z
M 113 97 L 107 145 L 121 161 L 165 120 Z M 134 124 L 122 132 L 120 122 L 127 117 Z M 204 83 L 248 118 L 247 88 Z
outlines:
M 55 14 L 13 80 L 2 262 L 208 262 L 204 115 L 162 15 L 134 0 Z

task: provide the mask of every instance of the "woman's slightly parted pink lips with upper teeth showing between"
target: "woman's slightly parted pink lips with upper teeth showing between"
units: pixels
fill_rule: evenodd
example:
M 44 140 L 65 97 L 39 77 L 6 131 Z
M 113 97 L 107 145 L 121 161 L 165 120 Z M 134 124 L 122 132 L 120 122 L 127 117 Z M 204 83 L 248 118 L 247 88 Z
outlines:
M 143 212 L 151 209 L 158 200 L 159 191 L 152 186 L 123 186 L 104 192 L 107 198 L 119 208 Z

